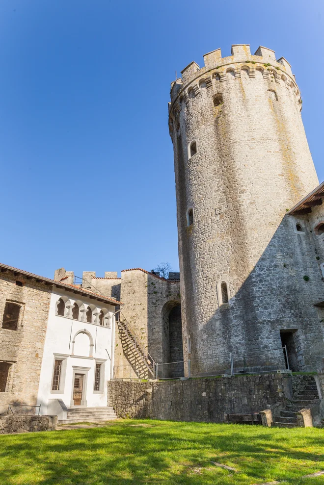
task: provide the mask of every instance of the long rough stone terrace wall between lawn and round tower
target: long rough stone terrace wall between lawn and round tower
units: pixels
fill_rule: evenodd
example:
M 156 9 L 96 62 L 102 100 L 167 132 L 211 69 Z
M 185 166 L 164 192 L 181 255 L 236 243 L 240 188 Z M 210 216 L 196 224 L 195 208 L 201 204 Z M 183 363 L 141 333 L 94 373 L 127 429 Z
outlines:
M 222 423 L 225 413 L 260 412 L 289 399 L 291 379 L 285 374 L 268 374 L 185 381 L 110 381 L 108 406 L 119 418 Z

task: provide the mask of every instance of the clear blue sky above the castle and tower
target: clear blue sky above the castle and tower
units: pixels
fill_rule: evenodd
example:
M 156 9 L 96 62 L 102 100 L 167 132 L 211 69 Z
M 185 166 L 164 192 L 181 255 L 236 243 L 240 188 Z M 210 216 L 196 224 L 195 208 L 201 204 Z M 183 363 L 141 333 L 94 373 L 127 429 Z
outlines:
M 323 181 L 323 17 L 322 0 L 1 0 L 1 262 L 177 270 L 170 82 L 219 47 L 291 63 Z

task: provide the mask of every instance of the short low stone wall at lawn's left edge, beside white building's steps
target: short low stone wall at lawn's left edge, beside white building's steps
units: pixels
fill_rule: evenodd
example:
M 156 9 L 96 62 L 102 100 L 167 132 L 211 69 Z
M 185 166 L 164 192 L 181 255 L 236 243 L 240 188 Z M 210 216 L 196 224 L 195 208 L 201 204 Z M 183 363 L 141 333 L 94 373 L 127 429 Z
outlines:
M 7 415 L 0 416 L 0 434 L 52 431 L 56 429 L 57 416 Z

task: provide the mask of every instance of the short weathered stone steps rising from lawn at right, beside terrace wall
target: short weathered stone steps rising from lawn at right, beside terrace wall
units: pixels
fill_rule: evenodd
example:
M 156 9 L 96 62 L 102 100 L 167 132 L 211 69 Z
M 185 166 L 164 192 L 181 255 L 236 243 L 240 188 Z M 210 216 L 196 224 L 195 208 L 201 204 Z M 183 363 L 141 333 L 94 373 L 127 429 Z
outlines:
M 319 395 L 315 379 L 312 378 L 305 386 L 296 390 L 292 401 L 278 416 L 274 416 L 271 426 L 297 428 L 297 412 L 310 406 L 315 399 L 319 399 Z

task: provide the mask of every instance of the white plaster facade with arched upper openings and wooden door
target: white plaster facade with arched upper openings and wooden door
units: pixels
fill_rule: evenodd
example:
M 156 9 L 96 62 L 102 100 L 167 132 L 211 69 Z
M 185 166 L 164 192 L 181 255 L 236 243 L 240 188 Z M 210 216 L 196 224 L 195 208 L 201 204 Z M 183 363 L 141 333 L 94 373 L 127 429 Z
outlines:
M 51 295 L 37 398 L 37 404 L 41 405 L 41 414 L 47 414 L 51 411 L 51 408 L 57 404 L 52 401 L 55 399 L 62 400 L 66 408 L 70 408 L 71 405 L 73 405 L 73 373 L 75 367 L 89 368 L 87 378 L 84 380 L 84 384 L 86 383 L 86 406 L 107 406 L 106 383 L 110 379 L 112 369 L 110 359 L 113 358 L 111 337 L 114 329 L 114 306 L 105 305 L 102 302 L 87 297 L 80 298 L 80 295 L 73 295 L 75 297 L 73 298 L 72 295 L 73 293 L 65 292 L 62 289 L 55 289 Z M 99 322 L 97 325 L 56 315 L 57 300 L 62 296 L 68 297 L 71 305 L 73 305 L 75 301 L 81 301 L 85 308 L 88 305 L 95 306 L 98 311 L 102 308 L 107 308 L 110 316 L 110 328 L 107 326 L 100 326 Z M 95 320 L 95 318 L 93 318 L 93 320 Z M 98 320 L 98 318 L 96 320 Z M 88 332 L 91 338 L 85 333 L 77 334 L 82 330 Z M 74 345 L 73 340 L 75 340 Z M 89 345 L 91 340 L 93 342 L 93 347 L 90 347 Z M 55 355 L 57 358 L 66 358 L 66 368 L 64 370 L 65 365 L 62 364 L 61 373 L 61 383 L 64 385 L 61 386 L 62 388 L 59 391 L 52 391 Z M 102 363 L 104 366 L 104 369 L 102 369 L 104 372 L 102 372 L 101 376 L 100 391 L 94 391 L 96 361 Z M 77 370 L 76 372 L 78 373 Z M 80 373 L 82 374 L 84 371 L 81 371 Z

